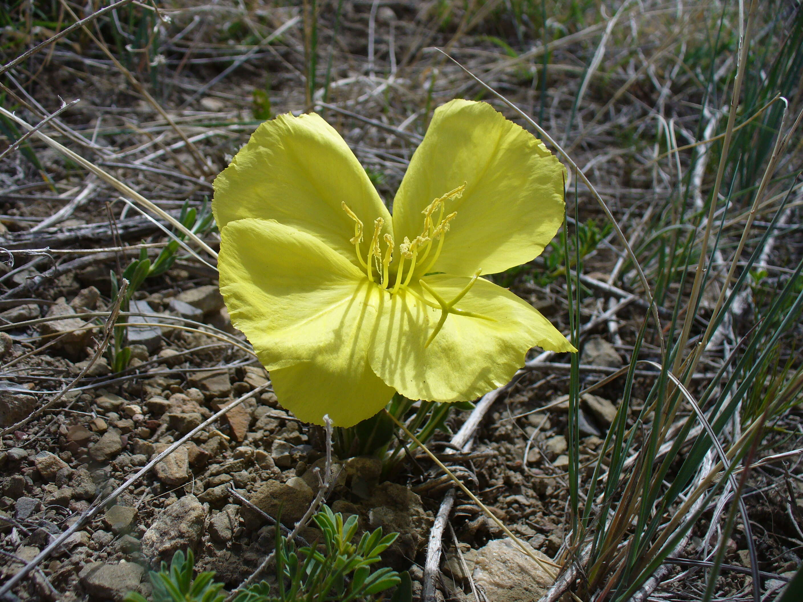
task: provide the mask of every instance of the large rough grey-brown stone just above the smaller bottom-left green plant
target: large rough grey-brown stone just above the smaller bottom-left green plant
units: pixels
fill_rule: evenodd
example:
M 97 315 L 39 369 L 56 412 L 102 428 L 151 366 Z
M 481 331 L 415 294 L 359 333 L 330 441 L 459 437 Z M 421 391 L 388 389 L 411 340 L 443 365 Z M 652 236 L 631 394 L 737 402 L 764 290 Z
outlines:
M 194 495 L 167 506 L 142 536 L 142 553 L 157 563 L 176 550 L 194 547 L 203 534 L 206 509 Z

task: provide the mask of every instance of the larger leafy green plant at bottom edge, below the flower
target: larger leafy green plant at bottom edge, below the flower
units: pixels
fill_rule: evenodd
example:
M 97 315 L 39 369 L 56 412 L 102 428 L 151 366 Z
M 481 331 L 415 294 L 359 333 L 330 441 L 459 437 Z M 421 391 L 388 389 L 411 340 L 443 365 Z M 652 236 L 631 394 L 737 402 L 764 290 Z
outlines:
M 345 522 L 343 515 L 322 506 L 315 522 L 324 532 L 325 551 L 316 546 L 294 549 L 277 531 L 275 585 L 278 595 L 271 594 L 267 581 L 254 584 L 238 593 L 234 602 L 375 602 L 382 600 L 382 592 L 402 584 L 397 571 L 383 567 L 371 571 L 370 565 L 379 562 L 380 555 L 393 543 L 398 533 L 382 536 L 379 527 L 373 533 L 364 533 L 360 542 L 352 543 L 357 535 L 357 516 Z M 410 577 L 406 576 L 407 581 Z M 409 588 L 397 588 L 391 602 L 410 600 Z

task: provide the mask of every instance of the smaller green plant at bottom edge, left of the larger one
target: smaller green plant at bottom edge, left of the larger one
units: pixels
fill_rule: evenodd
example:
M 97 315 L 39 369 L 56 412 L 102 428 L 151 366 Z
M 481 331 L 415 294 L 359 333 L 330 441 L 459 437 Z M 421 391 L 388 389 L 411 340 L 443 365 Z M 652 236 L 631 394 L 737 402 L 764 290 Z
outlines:
M 213 583 L 214 571 L 204 571 L 193 579 L 195 559 L 193 551 L 185 555 L 178 550 L 168 568 L 161 563 L 161 571 L 150 571 L 149 578 L 153 585 L 153 602 L 223 602 L 226 592 L 222 592 L 223 584 Z M 145 596 L 130 592 L 124 602 L 147 602 Z

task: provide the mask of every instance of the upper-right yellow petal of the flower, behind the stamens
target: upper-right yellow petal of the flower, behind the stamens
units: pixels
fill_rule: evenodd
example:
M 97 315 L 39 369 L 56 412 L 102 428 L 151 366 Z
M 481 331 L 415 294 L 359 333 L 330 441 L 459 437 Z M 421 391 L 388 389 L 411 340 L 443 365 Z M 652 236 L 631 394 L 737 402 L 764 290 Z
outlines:
M 429 271 L 494 274 L 530 261 L 563 222 L 564 168 L 544 144 L 490 104 L 452 100 L 439 107 L 393 201 L 393 235 L 421 233 L 422 209 L 466 183 L 446 202 L 450 222 Z

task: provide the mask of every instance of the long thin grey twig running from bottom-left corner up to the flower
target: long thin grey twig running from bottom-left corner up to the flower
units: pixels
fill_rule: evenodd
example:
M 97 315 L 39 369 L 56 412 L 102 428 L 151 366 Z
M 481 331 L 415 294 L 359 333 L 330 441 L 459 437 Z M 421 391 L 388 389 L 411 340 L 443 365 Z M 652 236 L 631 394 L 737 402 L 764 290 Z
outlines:
M 161 454 L 155 455 L 151 458 L 150 462 L 148 462 L 145 466 L 143 466 L 140 470 L 137 471 L 137 474 L 134 474 L 131 478 L 128 478 L 126 482 L 116 488 L 116 490 L 112 491 L 112 493 L 108 494 L 105 498 L 100 499 L 98 498 L 95 502 L 92 503 L 87 510 L 84 510 L 84 513 L 80 515 L 79 519 L 72 523 L 71 527 L 64 531 L 61 535 L 55 538 L 47 547 L 43 549 L 43 551 L 39 552 L 36 555 L 36 558 L 31 560 L 31 562 L 27 563 L 22 569 L 20 569 L 10 580 L 6 581 L 3 584 L 2 588 L 0 588 L 0 599 L 2 596 L 5 596 L 8 592 L 11 591 L 11 588 L 14 588 L 16 584 L 20 581 L 25 579 L 25 577 L 30 573 L 35 567 L 39 566 L 44 559 L 47 559 L 64 541 L 75 531 L 79 531 L 81 527 L 91 520 L 94 516 L 98 515 L 101 510 L 104 510 L 106 504 L 110 502 L 112 499 L 117 498 L 124 490 L 127 490 L 129 486 L 131 486 L 134 482 L 137 481 L 143 474 L 147 473 L 149 470 L 156 466 L 159 462 L 161 462 L 164 458 L 167 458 L 170 454 L 178 449 L 181 445 L 183 445 L 186 441 L 190 441 L 192 437 L 195 436 L 196 433 L 201 431 L 202 429 L 206 429 L 207 426 L 211 425 L 214 421 L 217 421 L 218 418 L 222 417 L 223 414 L 228 412 L 230 409 L 234 409 L 238 405 L 242 404 L 243 401 L 246 401 L 249 397 L 253 397 L 258 393 L 262 393 L 265 389 L 270 387 L 270 383 L 266 383 L 260 385 L 259 387 L 255 388 L 253 391 L 246 393 L 243 397 L 239 397 L 238 399 L 232 401 L 229 405 L 226 405 L 225 408 L 219 410 L 218 412 L 214 413 L 211 417 L 207 418 L 203 421 L 200 425 L 196 426 L 192 429 L 189 433 L 185 434 L 184 437 L 181 437 L 178 441 L 170 445 L 165 451 Z

